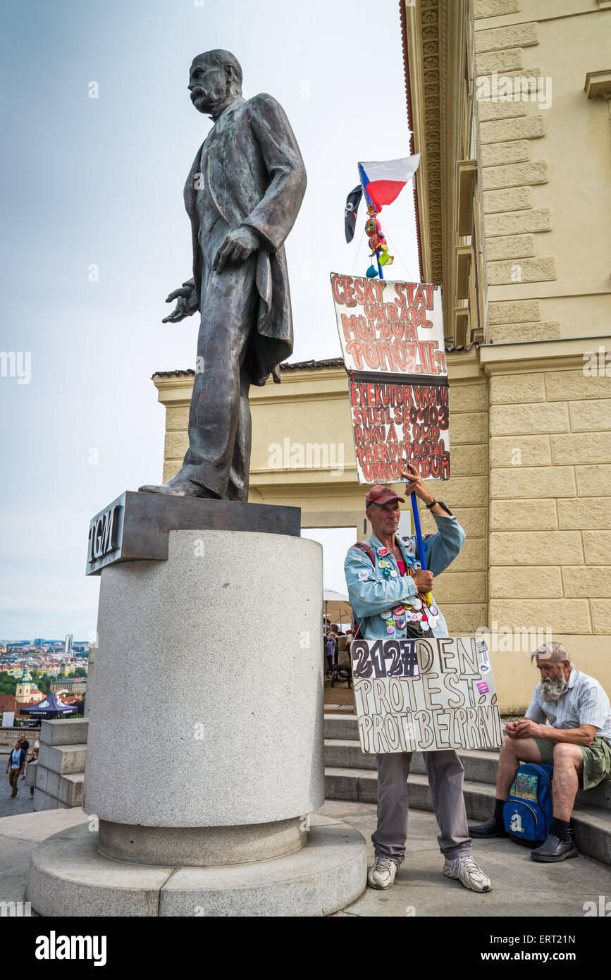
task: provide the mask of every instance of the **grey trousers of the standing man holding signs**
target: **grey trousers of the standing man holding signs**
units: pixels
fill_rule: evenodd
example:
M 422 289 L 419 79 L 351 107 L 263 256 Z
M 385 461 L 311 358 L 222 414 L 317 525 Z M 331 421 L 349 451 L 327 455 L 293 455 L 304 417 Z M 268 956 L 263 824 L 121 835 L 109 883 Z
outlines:
M 446 858 L 471 854 L 467 813 L 462 795 L 464 768 L 453 749 L 425 752 L 433 809 L 441 834 L 437 838 Z M 400 864 L 407 839 L 407 773 L 410 752 L 389 753 L 378 759 L 378 826 L 371 835 L 376 858 Z

